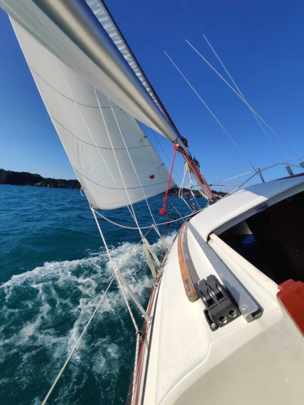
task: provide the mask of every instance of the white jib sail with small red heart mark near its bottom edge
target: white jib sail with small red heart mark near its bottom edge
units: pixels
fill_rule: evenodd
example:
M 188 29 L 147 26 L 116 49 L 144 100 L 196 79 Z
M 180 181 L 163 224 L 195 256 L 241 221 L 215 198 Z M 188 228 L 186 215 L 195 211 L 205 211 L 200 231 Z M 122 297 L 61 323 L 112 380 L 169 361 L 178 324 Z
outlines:
M 167 187 L 168 172 L 137 121 L 12 25 L 73 169 L 95 208 L 113 209 Z M 172 187 L 174 182 L 171 181 Z

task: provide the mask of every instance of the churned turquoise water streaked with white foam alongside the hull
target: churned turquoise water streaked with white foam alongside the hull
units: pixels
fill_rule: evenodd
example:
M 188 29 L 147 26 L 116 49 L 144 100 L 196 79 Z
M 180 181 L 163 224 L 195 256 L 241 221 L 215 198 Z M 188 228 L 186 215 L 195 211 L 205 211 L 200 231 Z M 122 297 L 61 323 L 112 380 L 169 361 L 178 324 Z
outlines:
M 167 242 L 173 237 L 170 234 Z M 161 245 L 158 240 L 153 247 L 159 252 Z M 124 242 L 110 253 L 146 305 L 152 278 L 142 246 Z M 101 250 L 79 260 L 46 262 L 12 276 L 0 287 L 0 363 L 5 370 L 0 387 L 10 393 L 8 403 L 41 402 L 112 275 L 107 254 Z M 123 375 L 120 383 L 127 389 L 134 342 L 132 322 L 113 284 L 58 384 L 54 403 L 76 404 L 79 392 L 82 403 L 85 396 L 92 404 L 100 403 L 101 398 L 105 403 L 123 403 L 123 398 L 113 397 L 113 391 L 118 375 Z M 33 375 L 32 370 L 38 372 Z M 22 398 L 16 396 L 20 393 Z

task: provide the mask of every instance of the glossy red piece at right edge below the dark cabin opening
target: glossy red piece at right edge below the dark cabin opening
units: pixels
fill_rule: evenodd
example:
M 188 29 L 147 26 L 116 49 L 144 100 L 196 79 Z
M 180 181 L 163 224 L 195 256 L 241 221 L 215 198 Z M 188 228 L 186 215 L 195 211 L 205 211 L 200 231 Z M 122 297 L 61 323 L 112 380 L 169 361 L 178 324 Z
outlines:
M 304 336 L 304 283 L 287 280 L 279 285 L 277 298 Z

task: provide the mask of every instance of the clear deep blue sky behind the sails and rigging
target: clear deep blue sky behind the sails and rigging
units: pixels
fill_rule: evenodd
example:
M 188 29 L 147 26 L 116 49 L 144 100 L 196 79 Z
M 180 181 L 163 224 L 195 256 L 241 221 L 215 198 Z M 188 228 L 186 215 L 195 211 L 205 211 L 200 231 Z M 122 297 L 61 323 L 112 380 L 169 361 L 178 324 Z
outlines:
M 164 50 L 255 167 L 281 159 L 248 108 L 186 44 L 187 38 L 221 69 L 202 33 L 250 104 L 297 154 L 304 156 L 303 2 L 108 0 L 107 5 L 180 132 L 189 140 L 190 151 L 200 160 L 208 182 L 252 169 L 166 58 Z M 0 27 L 0 167 L 75 178 L 3 11 Z M 285 160 L 295 158 L 270 132 L 269 136 Z M 166 139 L 158 138 L 170 159 L 172 146 Z M 150 139 L 167 163 L 154 136 Z M 181 159 L 177 161 L 177 170 L 183 170 Z M 279 169 L 265 177 L 285 174 Z

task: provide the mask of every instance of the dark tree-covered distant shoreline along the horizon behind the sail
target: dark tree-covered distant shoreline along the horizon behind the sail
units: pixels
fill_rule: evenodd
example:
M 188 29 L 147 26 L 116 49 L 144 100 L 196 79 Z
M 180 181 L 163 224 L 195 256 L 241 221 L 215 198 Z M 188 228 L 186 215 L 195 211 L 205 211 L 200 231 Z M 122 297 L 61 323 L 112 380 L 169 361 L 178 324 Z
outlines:
M 0 184 L 7 184 L 12 186 L 35 186 L 35 187 L 52 187 L 52 188 L 69 188 L 80 189 L 81 185 L 78 180 L 65 180 L 65 179 L 53 179 L 51 177 L 42 177 L 36 173 L 28 172 L 14 172 L 12 170 L 0 169 Z M 169 195 L 179 195 L 179 187 L 172 187 L 169 190 Z M 223 197 L 227 193 L 223 191 L 214 191 L 214 194 L 219 197 Z M 162 193 L 164 194 L 164 193 Z M 197 190 L 189 190 L 183 188 L 183 195 L 186 197 L 198 198 L 201 194 Z

